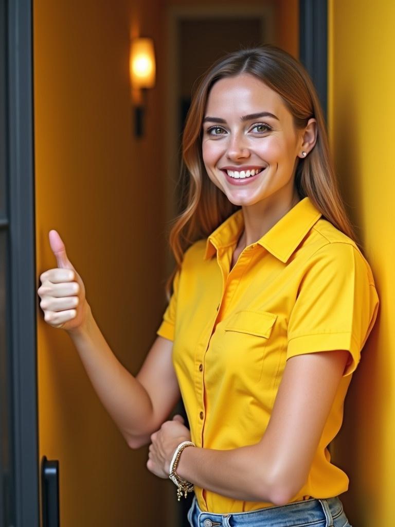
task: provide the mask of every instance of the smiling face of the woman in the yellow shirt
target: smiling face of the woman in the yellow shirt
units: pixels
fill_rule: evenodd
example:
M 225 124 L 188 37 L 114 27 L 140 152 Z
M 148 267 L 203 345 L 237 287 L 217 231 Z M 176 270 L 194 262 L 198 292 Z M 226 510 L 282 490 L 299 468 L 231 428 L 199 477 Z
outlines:
M 244 73 L 221 79 L 210 91 L 203 120 L 209 178 L 235 205 L 270 196 L 291 200 L 298 158 L 309 150 L 303 132 L 294 128 L 280 95 L 258 78 Z

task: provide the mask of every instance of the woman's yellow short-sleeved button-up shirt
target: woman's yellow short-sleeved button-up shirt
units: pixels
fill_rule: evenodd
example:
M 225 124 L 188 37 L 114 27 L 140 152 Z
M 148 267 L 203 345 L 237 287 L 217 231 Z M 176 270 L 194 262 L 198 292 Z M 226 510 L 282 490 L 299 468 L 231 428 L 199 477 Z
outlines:
M 173 340 L 173 364 L 191 439 L 229 450 L 258 443 L 265 432 L 289 357 L 349 350 L 335 401 L 309 476 L 291 501 L 348 489 L 327 446 L 338 433 L 343 401 L 379 299 L 356 244 L 299 201 L 231 268 L 243 229 L 236 211 L 184 255 L 157 334 Z M 200 508 L 242 512 L 272 503 L 234 500 L 195 486 Z

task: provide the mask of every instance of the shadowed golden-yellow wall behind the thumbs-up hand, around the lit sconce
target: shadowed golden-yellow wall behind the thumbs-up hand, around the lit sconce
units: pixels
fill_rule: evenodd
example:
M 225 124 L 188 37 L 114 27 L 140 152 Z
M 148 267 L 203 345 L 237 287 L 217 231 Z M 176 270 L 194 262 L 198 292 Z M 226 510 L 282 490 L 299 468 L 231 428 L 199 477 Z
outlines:
M 165 305 L 161 16 L 160 0 L 34 2 L 37 277 L 56 267 L 48 231 L 57 229 L 133 373 Z M 137 142 L 128 67 L 139 33 L 157 38 L 159 82 Z M 38 310 L 40 456 L 60 460 L 61 524 L 155 525 L 171 482 L 147 471 L 145 449 L 126 446 L 71 340 Z

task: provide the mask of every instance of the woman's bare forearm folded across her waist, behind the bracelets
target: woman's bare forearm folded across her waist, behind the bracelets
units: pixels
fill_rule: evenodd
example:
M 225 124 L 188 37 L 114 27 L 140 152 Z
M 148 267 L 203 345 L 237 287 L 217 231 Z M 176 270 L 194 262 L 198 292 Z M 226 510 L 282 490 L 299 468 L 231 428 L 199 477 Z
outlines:
M 257 445 L 234 450 L 188 447 L 176 472 L 182 479 L 223 496 L 273 503 L 272 466 Z

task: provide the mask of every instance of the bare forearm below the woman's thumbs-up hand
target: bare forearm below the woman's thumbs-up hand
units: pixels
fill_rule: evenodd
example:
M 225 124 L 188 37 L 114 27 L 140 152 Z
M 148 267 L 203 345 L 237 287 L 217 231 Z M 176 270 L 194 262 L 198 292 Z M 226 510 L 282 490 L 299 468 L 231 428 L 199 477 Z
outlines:
M 153 408 L 141 383 L 118 361 L 87 306 L 83 328 L 67 332 L 92 385 L 114 422 L 130 444 L 140 437 L 149 441 Z M 144 441 L 144 436 L 145 441 Z

